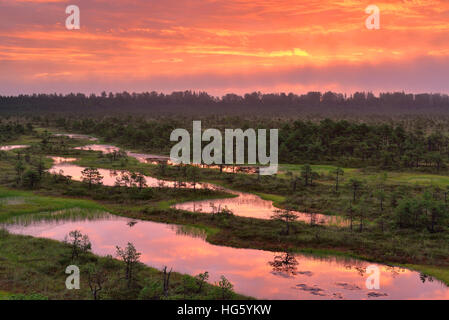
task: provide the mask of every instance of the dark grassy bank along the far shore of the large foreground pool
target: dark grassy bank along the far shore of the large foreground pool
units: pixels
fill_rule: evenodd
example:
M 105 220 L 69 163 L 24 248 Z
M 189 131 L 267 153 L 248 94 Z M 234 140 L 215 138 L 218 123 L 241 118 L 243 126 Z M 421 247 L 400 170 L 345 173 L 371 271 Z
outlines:
M 449 239 L 433 239 L 426 234 L 393 232 L 356 232 L 336 227 L 293 223 L 293 231 L 283 233 L 279 221 L 238 216 L 210 215 L 180 210 L 157 210 L 143 207 L 128 210 L 111 205 L 110 211 L 135 219 L 195 225 L 208 233 L 207 241 L 216 245 L 269 251 L 309 252 L 344 255 L 385 264 L 411 265 L 413 269 L 432 272 L 446 281 L 449 271 Z M 425 245 L 424 245 L 425 244 Z

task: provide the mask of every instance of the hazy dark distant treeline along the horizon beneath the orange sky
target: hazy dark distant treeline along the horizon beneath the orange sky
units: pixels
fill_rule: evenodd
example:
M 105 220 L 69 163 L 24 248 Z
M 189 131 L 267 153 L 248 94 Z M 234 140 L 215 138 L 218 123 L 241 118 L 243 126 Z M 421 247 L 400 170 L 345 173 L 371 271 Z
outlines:
M 371 92 L 351 95 L 335 92 L 247 93 L 214 97 L 206 92 L 179 91 L 171 94 L 106 93 L 33 94 L 0 96 L 0 113 L 138 113 L 138 114 L 448 114 L 449 96 L 445 94 Z

